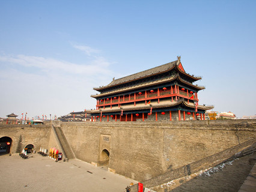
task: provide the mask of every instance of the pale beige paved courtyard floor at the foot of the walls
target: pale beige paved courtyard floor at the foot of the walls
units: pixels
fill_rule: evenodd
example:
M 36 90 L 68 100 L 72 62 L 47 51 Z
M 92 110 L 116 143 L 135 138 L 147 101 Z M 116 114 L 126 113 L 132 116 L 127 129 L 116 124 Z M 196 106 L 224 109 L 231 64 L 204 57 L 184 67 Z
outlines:
M 77 159 L 56 163 L 39 154 L 29 156 L 0 156 L 0 191 L 123 192 L 131 182 L 137 183 Z

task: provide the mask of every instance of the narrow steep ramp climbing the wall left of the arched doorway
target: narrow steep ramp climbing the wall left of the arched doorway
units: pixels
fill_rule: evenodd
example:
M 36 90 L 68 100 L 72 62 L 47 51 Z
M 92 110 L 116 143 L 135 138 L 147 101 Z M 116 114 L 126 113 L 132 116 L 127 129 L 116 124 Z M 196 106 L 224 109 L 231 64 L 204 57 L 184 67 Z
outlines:
M 53 133 L 55 134 L 56 141 L 61 148 L 62 154 L 64 158 L 72 159 L 76 158 L 74 152 L 72 151 L 72 148 L 69 145 L 69 142 L 67 141 L 62 129 L 60 126 L 53 126 L 52 125 Z

